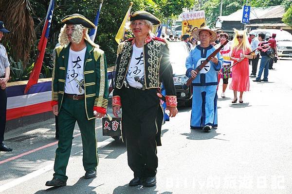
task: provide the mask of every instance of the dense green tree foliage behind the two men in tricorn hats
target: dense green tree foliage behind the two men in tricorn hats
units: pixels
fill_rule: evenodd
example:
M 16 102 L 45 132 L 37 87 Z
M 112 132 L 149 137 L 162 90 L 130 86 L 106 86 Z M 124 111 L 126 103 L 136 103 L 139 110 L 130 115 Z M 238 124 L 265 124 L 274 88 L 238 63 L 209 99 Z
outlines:
M 0 2 L 4 1 L 6 2 L 6 0 L 0 0 Z M 31 21 L 31 23 L 26 22 L 25 26 L 21 24 L 22 26 L 19 28 L 19 31 L 29 29 L 30 33 L 26 31 L 17 32 L 15 33 L 17 38 L 15 38 L 15 36 L 13 36 L 13 38 L 7 37 L 4 44 L 7 44 L 8 41 L 12 41 L 13 39 L 18 39 L 17 44 L 11 45 L 11 53 L 26 53 L 25 56 L 31 56 L 31 60 L 23 60 L 23 56 L 16 58 L 16 61 L 18 61 L 18 59 L 22 60 L 24 66 L 31 66 L 34 61 L 32 59 L 35 58 L 36 55 L 37 44 L 43 29 L 50 0 L 13 0 L 9 2 L 15 7 L 20 6 L 20 1 L 29 3 L 31 9 L 18 9 L 18 11 L 10 10 L 9 12 L 5 12 L 7 18 L 15 15 L 18 16 L 18 20 L 15 20 L 13 23 L 9 23 L 9 20 L 7 20 L 5 21 L 5 24 L 7 24 L 7 26 L 13 26 L 21 22 L 24 23 L 24 21 Z M 58 34 L 63 26 L 63 24 L 60 23 L 61 19 L 64 16 L 79 13 L 93 21 L 99 7 L 99 3 L 102 1 L 103 0 L 55 0 L 55 9 L 44 58 L 45 66 L 52 66 L 51 52 L 55 48 L 58 40 Z M 132 6 L 133 12 L 137 10 L 146 10 L 155 16 L 158 16 L 162 21 L 166 21 L 167 18 L 171 16 L 181 14 L 184 7 L 191 7 L 195 2 L 195 0 L 104 0 L 99 17 L 95 43 L 99 44 L 100 48 L 105 51 L 109 65 L 114 64 L 116 49 L 118 46 L 114 40 L 114 37 L 122 23 L 131 1 L 134 3 Z M 25 15 L 22 14 L 20 16 L 19 13 L 21 13 L 21 11 L 25 12 Z M 4 12 L 1 13 L 3 14 Z M 37 37 L 37 41 L 35 37 Z M 19 40 L 22 40 L 22 42 L 19 42 Z M 18 46 L 14 47 L 15 45 Z M 23 49 L 19 49 L 21 47 Z M 31 47 L 34 49 L 31 50 Z M 24 51 L 24 49 L 26 51 Z

